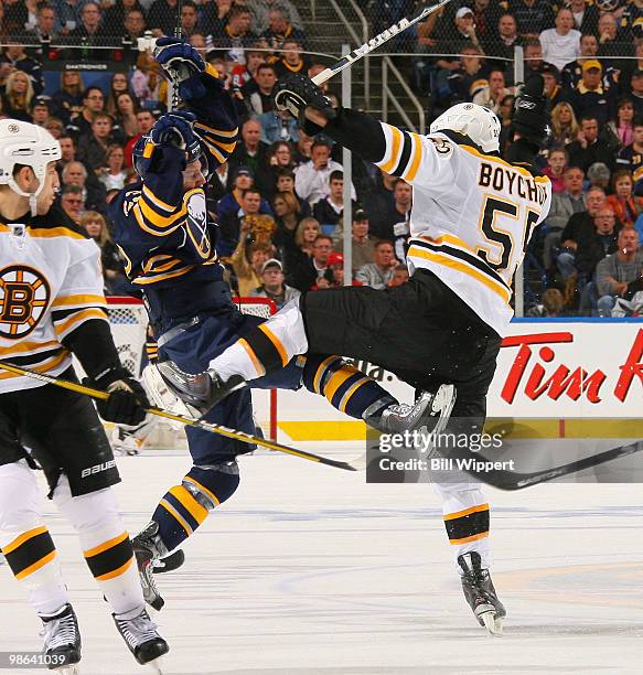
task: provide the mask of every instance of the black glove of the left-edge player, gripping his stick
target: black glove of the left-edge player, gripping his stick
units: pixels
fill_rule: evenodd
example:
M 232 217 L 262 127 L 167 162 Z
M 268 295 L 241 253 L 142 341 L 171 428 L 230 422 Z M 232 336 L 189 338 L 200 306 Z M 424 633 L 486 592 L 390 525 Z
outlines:
M 150 407 L 150 401 L 127 368 L 112 366 L 93 379 L 85 378 L 83 384 L 109 393 L 107 400 L 96 401 L 104 420 L 136 427 L 146 418 L 144 409 Z

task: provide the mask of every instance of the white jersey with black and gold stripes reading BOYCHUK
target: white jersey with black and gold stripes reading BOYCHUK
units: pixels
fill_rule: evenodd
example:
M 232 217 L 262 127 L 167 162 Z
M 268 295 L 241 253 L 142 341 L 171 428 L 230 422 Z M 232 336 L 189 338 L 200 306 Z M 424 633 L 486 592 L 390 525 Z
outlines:
M 377 167 L 414 188 L 409 272 L 430 269 L 504 335 L 514 272 L 549 212 L 549 179 L 443 133 L 382 127 L 386 153 Z

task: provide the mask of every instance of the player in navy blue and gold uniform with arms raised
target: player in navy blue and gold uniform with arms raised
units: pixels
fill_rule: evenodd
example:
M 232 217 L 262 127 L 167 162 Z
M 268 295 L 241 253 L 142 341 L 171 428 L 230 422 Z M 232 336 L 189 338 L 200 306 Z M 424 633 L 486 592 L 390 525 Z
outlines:
M 135 168 L 141 180 L 127 185 L 111 204 L 114 238 L 126 258 L 131 282 L 143 292 L 160 362 L 201 373 L 227 346 L 262 320 L 242 314 L 232 300 L 216 256 L 216 225 L 208 219 L 204 184 L 235 148 L 237 118 L 217 72 L 190 45 L 170 38 L 157 42 L 156 57 L 178 83 L 183 108 L 157 120 L 137 144 Z M 283 358 L 265 334 L 261 358 L 278 365 L 250 386 L 297 389 L 302 384 L 358 419 L 383 419 L 389 428 L 428 403 L 398 405 L 376 382 L 336 356 Z M 258 347 L 261 351 L 261 347 Z M 232 394 L 205 419 L 253 432 L 248 388 Z M 146 600 L 160 609 L 151 574 L 165 557 L 229 499 L 239 484 L 236 457 L 251 447 L 213 433 L 186 429 L 193 467 L 160 500 L 150 524 L 135 538 Z

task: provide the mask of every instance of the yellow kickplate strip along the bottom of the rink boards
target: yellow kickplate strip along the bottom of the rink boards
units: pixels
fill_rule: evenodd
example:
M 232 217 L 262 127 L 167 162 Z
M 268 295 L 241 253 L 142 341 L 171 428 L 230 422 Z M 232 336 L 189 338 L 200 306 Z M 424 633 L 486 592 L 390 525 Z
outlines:
M 366 425 L 346 421 L 280 421 L 293 441 L 365 440 Z M 643 438 L 643 419 L 489 418 L 484 430 L 504 438 Z

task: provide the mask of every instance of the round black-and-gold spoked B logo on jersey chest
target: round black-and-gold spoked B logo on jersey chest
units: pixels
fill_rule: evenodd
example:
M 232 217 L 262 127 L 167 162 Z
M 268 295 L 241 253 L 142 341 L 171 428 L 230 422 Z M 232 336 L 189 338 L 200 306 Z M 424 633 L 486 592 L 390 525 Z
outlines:
M 25 265 L 0 269 L 0 336 L 21 340 L 37 325 L 50 301 L 50 285 Z

